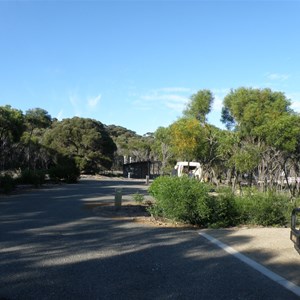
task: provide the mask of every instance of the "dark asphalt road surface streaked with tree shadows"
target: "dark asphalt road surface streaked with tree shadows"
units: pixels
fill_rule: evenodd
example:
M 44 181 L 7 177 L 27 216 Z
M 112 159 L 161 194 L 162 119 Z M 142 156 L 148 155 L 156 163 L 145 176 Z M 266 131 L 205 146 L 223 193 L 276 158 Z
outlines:
M 85 202 L 145 192 L 144 182 L 0 195 L 0 299 L 299 299 L 197 230 L 103 218 Z

